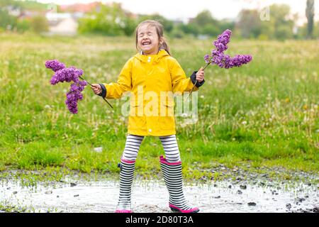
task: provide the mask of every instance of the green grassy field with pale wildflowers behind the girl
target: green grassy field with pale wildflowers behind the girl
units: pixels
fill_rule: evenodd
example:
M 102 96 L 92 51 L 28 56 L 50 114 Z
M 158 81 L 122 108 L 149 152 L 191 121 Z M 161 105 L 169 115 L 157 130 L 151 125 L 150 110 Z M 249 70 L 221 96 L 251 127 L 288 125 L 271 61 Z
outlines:
M 205 64 L 211 41 L 169 43 L 190 75 Z M 118 172 L 127 132 L 123 100 L 111 100 L 112 110 L 86 87 L 79 114 L 69 114 L 69 84 L 50 85 L 45 60 L 80 67 L 91 83 L 116 82 L 135 52 L 133 38 L 0 34 L 0 170 Z M 250 54 L 253 61 L 231 70 L 208 67 L 198 122 L 182 126 L 177 118 L 186 177 L 200 177 L 201 168 L 216 163 L 318 172 L 318 52 L 318 40 L 231 42 L 228 54 Z M 145 138 L 139 173 L 159 172 L 162 153 L 159 138 Z

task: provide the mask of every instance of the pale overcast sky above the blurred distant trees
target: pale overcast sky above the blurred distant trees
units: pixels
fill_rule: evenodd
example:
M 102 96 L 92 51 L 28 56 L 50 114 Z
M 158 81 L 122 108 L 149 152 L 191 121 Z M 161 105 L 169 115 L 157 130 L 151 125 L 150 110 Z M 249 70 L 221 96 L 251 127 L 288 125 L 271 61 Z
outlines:
M 38 0 L 43 3 L 74 4 L 89 3 L 91 0 Z M 102 0 L 119 2 L 123 9 L 133 13 L 159 13 L 169 19 L 187 21 L 198 12 L 208 9 L 218 19 L 235 18 L 241 9 L 256 9 L 271 4 L 288 4 L 293 13 L 306 20 L 306 0 Z M 319 0 L 315 1 L 315 20 L 319 20 Z

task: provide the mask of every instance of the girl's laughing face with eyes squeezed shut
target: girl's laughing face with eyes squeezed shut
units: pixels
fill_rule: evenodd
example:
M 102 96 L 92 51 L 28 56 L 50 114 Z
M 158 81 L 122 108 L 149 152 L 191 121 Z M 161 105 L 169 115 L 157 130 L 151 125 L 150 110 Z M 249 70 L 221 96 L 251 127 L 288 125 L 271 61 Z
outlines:
M 159 40 L 156 28 L 145 24 L 138 28 L 138 48 L 145 55 L 156 55 L 162 40 Z

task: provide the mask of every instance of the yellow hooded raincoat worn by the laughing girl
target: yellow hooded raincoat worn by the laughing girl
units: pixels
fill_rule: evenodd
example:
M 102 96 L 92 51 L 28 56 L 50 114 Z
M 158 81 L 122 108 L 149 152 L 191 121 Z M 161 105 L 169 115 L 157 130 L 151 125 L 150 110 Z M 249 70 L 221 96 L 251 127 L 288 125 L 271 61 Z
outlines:
M 118 82 L 103 85 L 106 99 L 118 99 L 124 92 L 131 92 L 128 133 L 153 136 L 176 134 L 173 96 L 164 96 L 164 100 L 161 92 L 182 94 L 194 86 L 179 62 L 165 50 L 157 55 L 136 54 L 125 63 Z M 157 102 L 150 105 L 155 99 Z

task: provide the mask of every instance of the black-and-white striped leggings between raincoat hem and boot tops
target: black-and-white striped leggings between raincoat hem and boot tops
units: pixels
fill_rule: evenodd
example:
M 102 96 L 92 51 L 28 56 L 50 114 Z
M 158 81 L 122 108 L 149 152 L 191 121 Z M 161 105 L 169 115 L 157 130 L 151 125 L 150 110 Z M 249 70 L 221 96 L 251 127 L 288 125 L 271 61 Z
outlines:
M 122 155 L 122 159 L 135 161 L 138 157 L 138 151 L 140 150 L 140 144 L 142 143 L 144 136 L 128 134 L 126 138 L 125 148 Z M 168 162 L 179 162 L 181 157 L 179 155 L 179 147 L 177 145 L 176 135 L 159 136 L 164 148 L 165 157 Z

